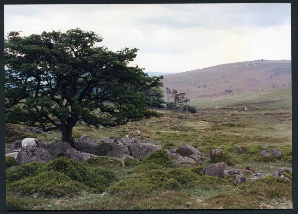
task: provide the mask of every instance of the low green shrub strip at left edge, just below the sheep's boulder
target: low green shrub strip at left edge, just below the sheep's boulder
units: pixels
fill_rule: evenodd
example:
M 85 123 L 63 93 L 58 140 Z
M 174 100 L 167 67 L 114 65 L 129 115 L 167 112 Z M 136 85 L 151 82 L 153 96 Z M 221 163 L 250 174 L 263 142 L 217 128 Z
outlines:
M 14 182 L 22 178 L 35 176 L 46 170 L 46 163 L 31 162 L 13 169 L 6 170 L 6 183 Z

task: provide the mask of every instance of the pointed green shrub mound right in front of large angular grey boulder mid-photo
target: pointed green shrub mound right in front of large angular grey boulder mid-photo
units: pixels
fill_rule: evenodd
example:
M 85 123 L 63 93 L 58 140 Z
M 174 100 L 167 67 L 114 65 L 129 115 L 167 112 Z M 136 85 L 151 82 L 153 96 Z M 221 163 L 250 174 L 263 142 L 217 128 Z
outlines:
M 165 150 L 156 150 L 141 161 L 142 164 L 154 162 L 164 167 L 174 167 L 174 163 Z

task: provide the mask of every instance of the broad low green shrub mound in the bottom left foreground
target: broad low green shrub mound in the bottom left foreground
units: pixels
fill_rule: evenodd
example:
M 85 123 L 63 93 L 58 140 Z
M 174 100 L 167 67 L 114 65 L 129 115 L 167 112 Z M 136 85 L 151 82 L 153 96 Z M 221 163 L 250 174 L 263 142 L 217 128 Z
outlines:
M 7 184 L 8 192 L 22 196 L 35 193 L 44 197 L 62 197 L 77 195 L 81 189 L 82 185 L 79 182 L 73 181 L 63 173 L 53 170 Z

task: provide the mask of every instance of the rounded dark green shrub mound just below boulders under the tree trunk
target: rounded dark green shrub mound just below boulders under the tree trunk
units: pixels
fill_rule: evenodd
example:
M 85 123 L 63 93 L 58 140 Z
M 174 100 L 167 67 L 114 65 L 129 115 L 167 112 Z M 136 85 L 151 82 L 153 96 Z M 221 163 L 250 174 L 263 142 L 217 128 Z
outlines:
M 47 170 L 54 170 L 60 173 L 64 173 L 73 180 L 83 182 L 86 177 L 86 167 L 79 161 L 68 159 L 65 157 L 59 157 L 49 162 Z

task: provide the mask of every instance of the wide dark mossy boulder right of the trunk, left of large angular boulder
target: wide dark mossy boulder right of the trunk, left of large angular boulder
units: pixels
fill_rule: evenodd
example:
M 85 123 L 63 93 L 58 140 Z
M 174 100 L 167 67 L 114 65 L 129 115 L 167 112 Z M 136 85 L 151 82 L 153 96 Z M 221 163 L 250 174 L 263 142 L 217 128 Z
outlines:
M 92 148 L 89 153 L 98 155 L 98 156 L 108 156 L 108 157 L 116 157 L 116 158 L 119 158 L 123 154 L 129 155 L 127 146 L 114 144 L 114 143 L 97 144 L 97 146 Z

